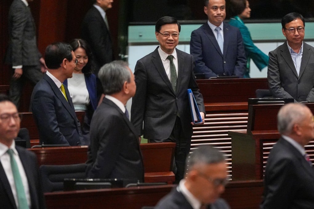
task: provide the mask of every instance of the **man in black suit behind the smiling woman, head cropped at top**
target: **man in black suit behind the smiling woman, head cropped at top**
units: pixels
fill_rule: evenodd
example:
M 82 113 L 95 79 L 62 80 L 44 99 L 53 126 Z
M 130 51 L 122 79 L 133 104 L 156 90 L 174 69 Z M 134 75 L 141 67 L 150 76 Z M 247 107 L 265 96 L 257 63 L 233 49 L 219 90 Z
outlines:
M 95 75 L 101 66 L 113 59 L 112 41 L 106 11 L 112 8 L 113 0 L 96 0 L 95 4 L 86 13 L 81 38 L 85 39 L 95 57 Z

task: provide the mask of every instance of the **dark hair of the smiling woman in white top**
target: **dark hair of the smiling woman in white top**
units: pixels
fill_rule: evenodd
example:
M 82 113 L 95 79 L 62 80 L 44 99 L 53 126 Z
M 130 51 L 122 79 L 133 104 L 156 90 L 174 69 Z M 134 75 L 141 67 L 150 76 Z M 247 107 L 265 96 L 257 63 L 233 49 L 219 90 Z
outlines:
M 94 65 L 94 57 L 93 57 L 92 51 L 90 50 L 87 42 L 84 39 L 73 39 L 70 42 L 70 45 L 73 51 L 77 50 L 79 47 L 85 50 L 86 55 L 88 56 L 88 62 L 83 67 L 82 73 L 84 73 L 87 76 L 91 75 L 95 69 L 95 65 Z

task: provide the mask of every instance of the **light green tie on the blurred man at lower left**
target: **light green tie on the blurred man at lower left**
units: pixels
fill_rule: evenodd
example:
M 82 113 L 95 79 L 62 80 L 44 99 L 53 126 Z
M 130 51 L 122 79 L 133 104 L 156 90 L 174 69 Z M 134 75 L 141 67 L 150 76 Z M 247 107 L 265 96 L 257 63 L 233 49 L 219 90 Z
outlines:
M 18 209 L 28 209 L 28 204 L 26 200 L 26 195 L 24 191 L 24 186 L 22 183 L 22 179 L 19 173 L 19 168 L 18 165 L 16 164 L 16 161 L 14 159 L 14 152 L 12 149 L 8 149 L 7 153 L 10 155 L 10 163 L 11 163 L 11 169 L 14 177 L 14 183 L 15 183 L 15 189 L 16 189 L 16 194 L 18 197 L 18 203 L 19 206 L 17 207 Z

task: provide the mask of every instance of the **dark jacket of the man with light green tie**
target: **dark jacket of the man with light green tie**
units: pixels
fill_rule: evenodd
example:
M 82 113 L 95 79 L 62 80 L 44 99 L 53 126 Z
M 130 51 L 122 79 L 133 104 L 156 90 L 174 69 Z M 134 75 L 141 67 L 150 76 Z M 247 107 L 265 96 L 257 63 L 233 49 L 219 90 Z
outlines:
M 40 174 L 37 164 L 36 155 L 24 148 L 15 146 L 19 153 L 19 158 L 25 170 L 30 189 L 30 209 L 43 209 L 46 208 L 44 194 L 41 190 Z M 3 170 L 0 162 L 0 208 L 16 209 L 16 204 L 12 194 L 12 190 L 8 178 Z

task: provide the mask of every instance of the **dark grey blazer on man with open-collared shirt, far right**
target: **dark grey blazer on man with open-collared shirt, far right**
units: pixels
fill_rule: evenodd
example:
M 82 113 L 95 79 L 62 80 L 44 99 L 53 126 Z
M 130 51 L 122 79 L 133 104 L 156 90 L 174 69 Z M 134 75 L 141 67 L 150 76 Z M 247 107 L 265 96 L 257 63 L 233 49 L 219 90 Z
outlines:
M 314 48 L 303 42 L 299 76 L 287 41 L 269 52 L 267 71 L 269 90 L 276 98 L 294 98 L 297 102 L 314 102 Z

